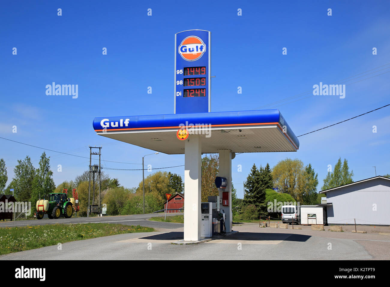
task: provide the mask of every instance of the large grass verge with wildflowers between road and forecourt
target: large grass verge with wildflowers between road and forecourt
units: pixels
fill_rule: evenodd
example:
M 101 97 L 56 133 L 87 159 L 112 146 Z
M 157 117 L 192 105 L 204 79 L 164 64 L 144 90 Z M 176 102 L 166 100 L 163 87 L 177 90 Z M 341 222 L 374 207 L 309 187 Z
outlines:
M 153 231 L 150 227 L 110 223 L 3 227 L 0 228 L 0 255 L 76 240 Z

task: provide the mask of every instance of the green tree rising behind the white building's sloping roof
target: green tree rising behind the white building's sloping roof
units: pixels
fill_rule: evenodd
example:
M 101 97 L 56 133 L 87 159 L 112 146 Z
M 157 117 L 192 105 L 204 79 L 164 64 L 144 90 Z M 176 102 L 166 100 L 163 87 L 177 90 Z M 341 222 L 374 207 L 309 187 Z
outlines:
M 330 189 L 340 185 L 351 184 L 353 182 L 353 171 L 349 172 L 348 162 L 344 159 L 341 165 L 341 157 L 337 160 L 333 172 L 328 172 L 326 178 L 324 178 L 324 185 L 322 190 Z

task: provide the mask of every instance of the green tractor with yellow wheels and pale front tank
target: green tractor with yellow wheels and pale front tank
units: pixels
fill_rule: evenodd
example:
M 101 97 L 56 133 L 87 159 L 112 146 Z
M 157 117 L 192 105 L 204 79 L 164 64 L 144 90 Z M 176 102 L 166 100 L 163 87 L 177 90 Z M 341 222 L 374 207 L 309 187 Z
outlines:
M 37 219 L 42 219 L 44 214 L 47 214 L 50 219 L 57 219 L 61 216 L 70 218 L 73 212 L 76 212 L 76 200 L 68 198 L 67 193 L 49 193 L 49 200 L 38 200 L 36 207 Z

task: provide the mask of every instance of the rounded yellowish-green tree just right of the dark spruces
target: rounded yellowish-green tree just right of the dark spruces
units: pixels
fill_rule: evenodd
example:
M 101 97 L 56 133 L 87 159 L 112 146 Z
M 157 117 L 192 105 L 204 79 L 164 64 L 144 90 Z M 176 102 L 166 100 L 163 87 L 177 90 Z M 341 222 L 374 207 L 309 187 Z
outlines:
M 303 162 L 299 159 L 281 160 L 272 169 L 274 186 L 281 193 L 290 194 L 296 200 L 302 200 L 306 185 L 306 171 Z

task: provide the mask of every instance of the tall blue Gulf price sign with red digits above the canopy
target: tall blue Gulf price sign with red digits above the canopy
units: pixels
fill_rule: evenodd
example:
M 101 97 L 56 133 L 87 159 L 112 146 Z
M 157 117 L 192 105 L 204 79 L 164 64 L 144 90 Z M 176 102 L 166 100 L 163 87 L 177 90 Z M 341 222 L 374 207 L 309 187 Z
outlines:
M 210 37 L 206 30 L 175 34 L 175 114 L 210 112 Z

